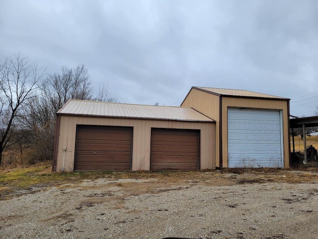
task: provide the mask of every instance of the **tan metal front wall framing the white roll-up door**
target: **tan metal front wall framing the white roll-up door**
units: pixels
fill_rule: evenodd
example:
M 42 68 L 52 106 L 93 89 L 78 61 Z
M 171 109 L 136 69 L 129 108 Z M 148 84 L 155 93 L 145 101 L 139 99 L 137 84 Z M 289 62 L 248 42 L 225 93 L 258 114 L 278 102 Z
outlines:
M 283 111 L 283 143 L 284 143 L 284 167 L 289 167 L 289 116 L 288 101 L 246 99 L 234 97 L 222 97 L 222 150 L 223 167 L 228 167 L 228 107 L 246 107 L 255 109 L 282 110 Z

